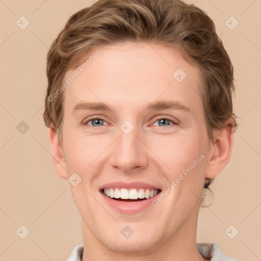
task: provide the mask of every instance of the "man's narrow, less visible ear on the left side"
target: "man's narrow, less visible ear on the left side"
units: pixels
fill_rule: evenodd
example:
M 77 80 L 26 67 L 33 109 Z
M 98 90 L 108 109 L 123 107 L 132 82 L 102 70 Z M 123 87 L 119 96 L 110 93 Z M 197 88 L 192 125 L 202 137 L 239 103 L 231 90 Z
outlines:
M 51 127 L 49 128 L 49 140 L 51 150 L 53 152 L 53 163 L 56 171 L 61 178 L 68 179 L 62 146 L 57 138 L 55 129 Z

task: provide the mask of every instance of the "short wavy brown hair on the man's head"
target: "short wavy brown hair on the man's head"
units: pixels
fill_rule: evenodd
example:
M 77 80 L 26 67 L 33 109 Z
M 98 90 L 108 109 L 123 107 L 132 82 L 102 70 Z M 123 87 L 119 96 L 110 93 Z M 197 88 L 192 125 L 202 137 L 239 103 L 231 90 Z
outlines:
M 47 55 L 48 88 L 43 114 L 62 140 L 63 93 L 49 100 L 69 69 L 94 48 L 124 42 L 171 46 L 200 69 L 201 97 L 208 138 L 232 118 L 233 67 L 215 24 L 205 12 L 180 0 L 100 0 L 73 14 Z M 206 178 L 204 188 L 213 181 Z

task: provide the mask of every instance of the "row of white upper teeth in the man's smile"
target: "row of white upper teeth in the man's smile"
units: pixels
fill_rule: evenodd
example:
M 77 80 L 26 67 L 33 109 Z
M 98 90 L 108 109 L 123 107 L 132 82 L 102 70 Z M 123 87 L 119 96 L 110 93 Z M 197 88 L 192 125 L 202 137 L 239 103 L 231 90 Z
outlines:
M 103 194 L 110 198 L 121 199 L 138 199 L 138 198 L 152 198 L 159 193 L 157 189 L 104 189 Z

